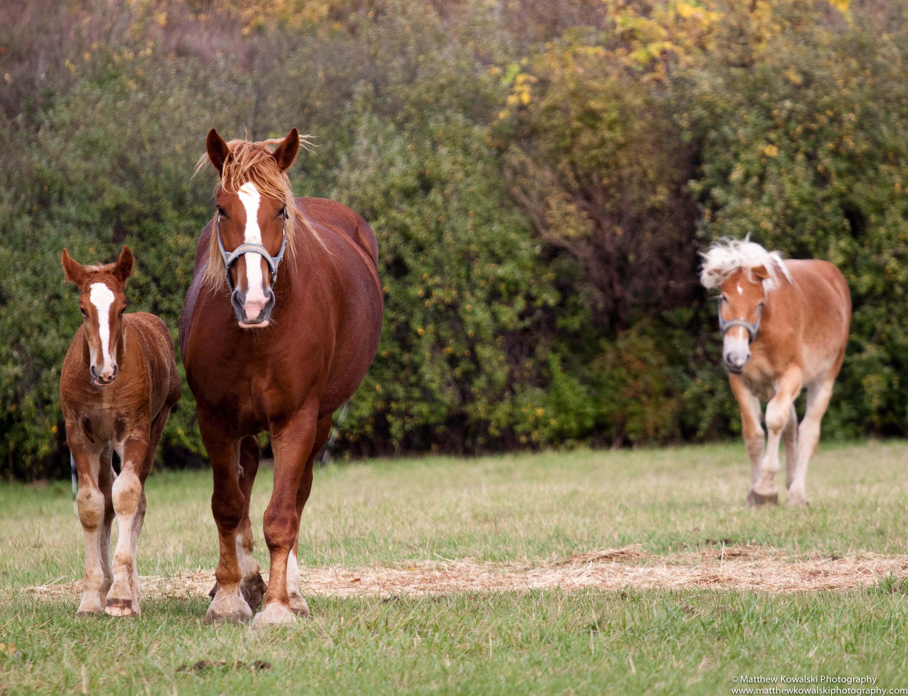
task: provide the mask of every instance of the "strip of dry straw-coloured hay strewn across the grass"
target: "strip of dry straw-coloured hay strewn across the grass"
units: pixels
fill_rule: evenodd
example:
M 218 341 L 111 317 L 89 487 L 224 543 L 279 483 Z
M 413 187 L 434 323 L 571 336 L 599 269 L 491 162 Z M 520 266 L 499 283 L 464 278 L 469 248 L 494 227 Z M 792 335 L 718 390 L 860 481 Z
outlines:
M 776 549 L 744 544 L 650 556 L 642 545 L 633 544 L 552 562 L 495 563 L 465 558 L 406 567 L 303 568 L 300 589 L 307 595 L 334 597 L 551 588 L 620 590 L 627 586 L 820 592 L 854 590 L 890 574 L 908 577 L 908 555 L 859 553 L 838 558 L 813 553 L 792 557 Z M 142 584 L 145 598 L 205 597 L 214 584 L 214 572 L 144 576 Z M 48 600 L 74 600 L 82 592 L 82 582 L 40 585 L 25 592 Z

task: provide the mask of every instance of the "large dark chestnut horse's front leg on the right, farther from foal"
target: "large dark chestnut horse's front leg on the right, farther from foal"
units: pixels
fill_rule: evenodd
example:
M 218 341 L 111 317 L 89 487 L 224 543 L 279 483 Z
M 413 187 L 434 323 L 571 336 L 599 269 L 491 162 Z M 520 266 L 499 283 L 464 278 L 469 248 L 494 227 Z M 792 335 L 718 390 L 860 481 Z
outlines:
M 317 421 L 318 404 L 306 404 L 283 423 L 279 431 L 271 433 L 274 490 L 264 519 L 265 542 L 271 552 L 271 571 L 262 611 L 255 615 L 252 628 L 296 621 L 287 587 L 287 566 L 291 552 L 292 564 L 296 566 L 295 543 L 300 532 L 297 500 L 301 489 L 305 489 L 304 497 L 309 495 L 314 458 L 311 451 L 316 440 Z M 308 483 L 304 485 L 304 482 Z M 295 572 L 299 579 L 298 566 Z

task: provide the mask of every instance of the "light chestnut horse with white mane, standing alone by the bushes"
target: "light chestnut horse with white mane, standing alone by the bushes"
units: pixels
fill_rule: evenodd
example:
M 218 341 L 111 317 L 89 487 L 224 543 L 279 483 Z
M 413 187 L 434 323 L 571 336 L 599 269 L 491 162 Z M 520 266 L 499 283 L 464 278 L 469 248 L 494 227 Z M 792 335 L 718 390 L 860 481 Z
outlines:
M 783 261 L 747 239 L 725 238 L 704 254 L 700 280 L 721 292 L 722 359 L 750 454 L 747 501 L 778 502 L 781 439 L 787 503 L 804 505 L 807 464 L 848 343 L 851 294 L 844 275 L 827 261 Z M 798 425 L 795 399 L 803 387 L 807 407 Z M 765 443 L 761 395 L 768 400 Z

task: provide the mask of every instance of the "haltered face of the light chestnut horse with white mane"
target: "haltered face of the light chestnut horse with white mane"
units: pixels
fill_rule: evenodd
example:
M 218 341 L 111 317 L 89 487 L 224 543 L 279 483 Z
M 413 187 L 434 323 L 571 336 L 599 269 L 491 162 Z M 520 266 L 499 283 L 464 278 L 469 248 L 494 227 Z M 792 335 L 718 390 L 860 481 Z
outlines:
M 722 327 L 722 359 L 728 371 L 740 374 L 750 360 L 750 344 L 756 338 L 763 303 L 764 281 L 770 275 L 765 266 L 739 268 L 720 286 L 719 324 Z

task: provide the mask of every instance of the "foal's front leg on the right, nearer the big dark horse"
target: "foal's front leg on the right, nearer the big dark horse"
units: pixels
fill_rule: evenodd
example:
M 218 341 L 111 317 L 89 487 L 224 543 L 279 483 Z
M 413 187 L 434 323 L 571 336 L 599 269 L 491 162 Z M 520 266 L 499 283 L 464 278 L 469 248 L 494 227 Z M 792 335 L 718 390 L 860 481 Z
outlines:
M 164 419 L 166 422 L 166 418 Z M 114 549 L 114 584 L 104 611 L 111 616 L 135 616 L 142 610 L 142 588 L 136 562 L 139 532 L 145 519 L 145 479 L 157 444 L 154 427 L 137 428 L 123 442 L 120 475 L 111 487 L 119 534 Z M 160 436 L 160 433 L 158 433 Z M 151 450 L 151 452 L 149 452 Z

